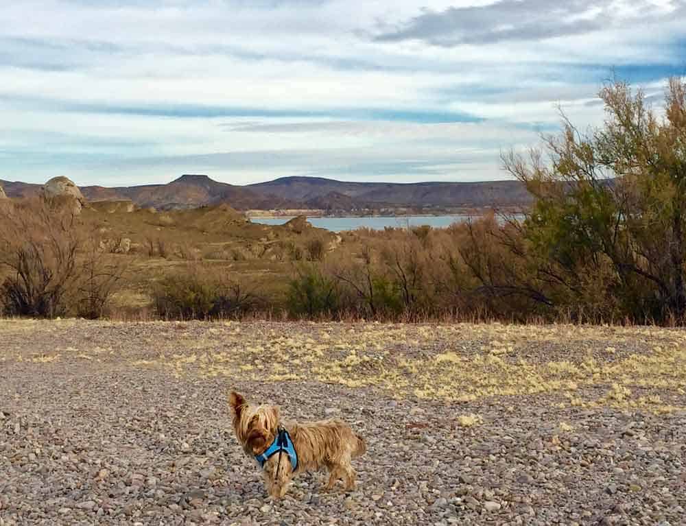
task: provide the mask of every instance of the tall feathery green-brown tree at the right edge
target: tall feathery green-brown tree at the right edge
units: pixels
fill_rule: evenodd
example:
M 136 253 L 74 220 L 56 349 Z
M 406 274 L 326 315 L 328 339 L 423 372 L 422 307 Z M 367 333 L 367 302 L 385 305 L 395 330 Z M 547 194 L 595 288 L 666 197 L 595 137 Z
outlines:
M 634 320 L 681 320 L 686 82 L 670 80 L 663 116 L 624 82 L 600 98 L 602 128 L 581 133 L 565 118 L 563 134 L 546 139 L 549 160 L 535 150 L 504 156 L 536 199 L 523 224 L 528 260 L 552 304 L 593 296 Z

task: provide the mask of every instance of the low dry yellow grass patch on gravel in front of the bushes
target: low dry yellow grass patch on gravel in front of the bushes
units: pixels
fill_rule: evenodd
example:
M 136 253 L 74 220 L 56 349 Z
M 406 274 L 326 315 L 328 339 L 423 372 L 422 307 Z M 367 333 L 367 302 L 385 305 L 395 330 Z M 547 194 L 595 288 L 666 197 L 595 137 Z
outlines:
M 29 333 L 37 322 L 0 329 Z M 62 322 L 55 324 L 56 330 Z M 121 324 L 115 324 L 120 326 Z M 556 407 L 616 407 L 655 414 L 686 406 L 686 334 L 660 328 L 454 324 L 140 324 L 131 367 L 259 382 L 318 381 L 371 387 L 399 398 L 451 403 L 540 396 Z M 45 325 L 41 325 L 45 328 Z M 173 333 L 158 340 L 156 331 Z M 613 348 L 608 352 L 608 347 Z M 61 348 L 35 363 L 93 357 L 112 348 Z M 7 357 L 5 357 L 7 359 Z M 465 415 L 460 425 L 478 423 Z M 560 432 L 569 431 L 567 422 Z

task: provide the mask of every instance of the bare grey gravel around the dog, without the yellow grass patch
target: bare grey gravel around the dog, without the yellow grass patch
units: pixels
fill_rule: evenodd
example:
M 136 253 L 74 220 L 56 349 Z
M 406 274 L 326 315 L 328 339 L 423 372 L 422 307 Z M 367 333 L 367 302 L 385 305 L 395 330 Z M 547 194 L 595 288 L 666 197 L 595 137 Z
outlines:
M 686 412 L 679 407 L 686 399 L 678 392 L 663 394 L 677 407 L 670 414 L 575 407 L 545 393 L 449 403 L 373 385 L 258 381 L 241 370 L 179 374 L 150 363 L 161 349 L 191 352 L 178 344 L 176 324 L 0 324 L 1 526 L 686 523 Z M 345 330 L 240 327 L 246 346 L 270 331 Z M 229 341 L 225 330 L 182 326 L 211 348 Z M 622 335 L 611 359 L 628 345 L 649 352 L 637 344 L 642 337 Z M 619 339 L 594 338 L 598 348 Z M 460 344 L 487 341 L 480 331 L 469 339 L 467 327 Z M 430 352 L 448 343 L 437 337 Z M 368 442 L 355 461 L 357 489 L 324 492 L 324 474 L 313 473 L 296 479 L 282 501 L 270 501 L 230 429 L 230 388 L 280 405 L 289 418 L 348 421 Z M 460 425 L 458 416 L 469 414 L 480 423 Z M 560 422 L 573 429 L 560 431 Z

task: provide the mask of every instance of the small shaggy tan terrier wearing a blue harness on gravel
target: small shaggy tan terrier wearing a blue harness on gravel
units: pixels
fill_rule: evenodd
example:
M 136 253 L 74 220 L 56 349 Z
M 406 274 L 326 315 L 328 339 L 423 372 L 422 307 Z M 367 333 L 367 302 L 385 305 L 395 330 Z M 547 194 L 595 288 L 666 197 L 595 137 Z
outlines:
M 233 429 L 247 455 L 263 467 L 269 494 L 280 499 L 293 477 L 309 470 L 329 470 L 327 490 L 338 479 L 346 491 L 355 487 L 351 459 L 366 451 L 364 440 L 338 419 L 319 422 L 288 422 L 281 425 L 279 409 L 250 405 L 244 396 L 231 392 L 228 403 L 233 411 Z

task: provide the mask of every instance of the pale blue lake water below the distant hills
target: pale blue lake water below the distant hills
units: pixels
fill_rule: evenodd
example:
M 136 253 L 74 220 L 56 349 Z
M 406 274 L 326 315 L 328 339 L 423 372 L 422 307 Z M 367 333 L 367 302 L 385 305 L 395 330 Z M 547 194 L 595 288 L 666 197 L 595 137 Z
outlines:
M 307 221 L 318 228 L 326 228 L 332 232 L 343 230 L 355 230 L 356 228 L 372 228 L 383 230 L 387 226 L 393 228 L 407 228 L 407 226 L 429 225 L 434 228 L 445 228 L 453 223 L 462 223 L 469 219 L 470 215 L 403 215 L 375 216 L 375 217 L 308 217 Z M 250 217 L 253 223 L 265 225 L 283 225 L 293 219 L 292 217 Z

